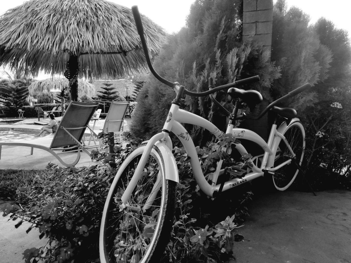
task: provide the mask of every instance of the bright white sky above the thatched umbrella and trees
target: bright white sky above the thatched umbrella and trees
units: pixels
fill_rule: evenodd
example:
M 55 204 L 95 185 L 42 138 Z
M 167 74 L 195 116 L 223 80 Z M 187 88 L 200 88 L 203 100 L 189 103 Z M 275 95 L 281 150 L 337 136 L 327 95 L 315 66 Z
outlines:
M 273 0 L 276 2 L 277 0 Z M 286 0 L 289 7 L 296 6 L 310 15 L 311 23 L 324 16 L 334 22 L 337 28 L 351 32 L 350 7 L 348 0 Z M 0 15 L 8 9 L 23 4 L 24 0 L 0 0 Z M 110 0 L 126 7 L 137 5 L 139 12 L 151 18 L 155 23 L 166 29 L 168 33 L 178 32 L 185 26 L 185 20 L 189 14 L 190 5 L 194 0 Z M 349 34 L 350 36 L 350 34 Z M 0 69 L 0 71 L 2 68 Z M 1 72 L 0 72 L 1 75 Z M 39 74 L 38 80 L 50 77 Z

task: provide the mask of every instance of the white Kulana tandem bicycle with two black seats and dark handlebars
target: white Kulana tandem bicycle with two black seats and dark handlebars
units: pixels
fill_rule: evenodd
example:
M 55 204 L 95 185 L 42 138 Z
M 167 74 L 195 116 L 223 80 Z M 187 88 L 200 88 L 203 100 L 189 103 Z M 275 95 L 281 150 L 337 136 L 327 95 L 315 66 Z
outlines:
M 152 66 L 138 8 L 134 6 L 132 10 L 151 72 L 158 80 L 170 86 L 177 95 L 172 101 L 163 129 L 125 159 L 112 182 L 100 228 L 99 253 L 102 263 L 159 262 L 160 255 L 169 241 L 179 182 L 169 136 L 171 132 L 183 143 L 186 153 L 190 156 L 194 177 L 200 189 L 210 197 L 216 197 L 239 184 L 269 174 L 272 175 L 273 184 L 278 190 L 287 189 L 299 172 L 305 148 L 305 131 L 296 118 L 296 110 L 278 108 L 275 105 L 309 88 L 309 83 L 272 102 L 259 116 L 238 114 L 241 104 L 258 104 L 262 101 L 262 96 L 255 90 L 234 87 L 259 81 L 258 76 L 216 88 L 212 88 L 213 81 L 210 78 L 210 90 L 201 93 L 190 92 L 179 83 L 164 79 Z M 264 154 L 247 160 L 249 166 L 245 169 L 225 170 L 222 167 L 223 160 L 220 160 L 213 173 L 204 175 L 194 143 L 181 123 L 203 127 L 218 140 L 223 139 L 224 133 L 206 119 L 179 107 L 184 101 L 184 95 L 206 96 L 224 89 L 228 89 L 227 94 L 235 101 L 226 134 L 256 142 L 264 150 Z M 259 119 L 269 110 L 276 116 L 284 117 L 285 121 L 278 127 L 276 118 L 267 142 L 251 130 L 234 128 L 233 123 L 236 120 Z M 235 149 L 241 156 L 248 154 L 240 143 L 235 143 Z M 229 180 L 217 183 L 220 176 L 228 175 Z

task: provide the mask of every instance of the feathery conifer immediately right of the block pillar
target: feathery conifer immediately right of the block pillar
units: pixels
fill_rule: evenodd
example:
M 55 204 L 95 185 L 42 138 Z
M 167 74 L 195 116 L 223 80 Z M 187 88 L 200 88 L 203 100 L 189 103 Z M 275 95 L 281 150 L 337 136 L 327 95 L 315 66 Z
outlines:
M 308 26 L 309 21 L 309 15 L 301 9 L 287 9 L 285 0 L 278 0 L 273 7 L 272 61 L 282 68 L 282 76 L 272 88 L 275 98 L 306 82 L 316 85 L 328 77 L 332 53 Z M 317 100 L 313 92 L 295 96 L 293 104 L 304 108 Z

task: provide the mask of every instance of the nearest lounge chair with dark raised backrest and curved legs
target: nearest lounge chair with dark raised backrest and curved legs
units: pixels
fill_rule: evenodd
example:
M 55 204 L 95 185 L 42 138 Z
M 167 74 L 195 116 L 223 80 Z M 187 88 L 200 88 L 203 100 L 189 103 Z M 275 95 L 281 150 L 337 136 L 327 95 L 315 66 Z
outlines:
M 86 154 L 90 155 L 88 149 L 99 147 L 98 145 L 85 146 L 81 143 L 85 129 L 88 128 L 91 130 L 91 128 L 88 127 L 88 123 L 98 106 L 98 102 L 71 101 L 55 134 L 31 140 L 0 142 L 0 159 L 2 146 L 27 146 L 31 147 L 31 154 L 33 154 L 33 148 L 43 149 L 55 156 L 63 165 L 67 167 L 75 166 L 80 159 L 81 149 Z M 64 148 L 64 146 L 69 147 Z M 77 147 L 77 158 L 72 163 L 64 162 L 56 153 L 57 151 L 61 152 L 62 150 L 69 150 Z

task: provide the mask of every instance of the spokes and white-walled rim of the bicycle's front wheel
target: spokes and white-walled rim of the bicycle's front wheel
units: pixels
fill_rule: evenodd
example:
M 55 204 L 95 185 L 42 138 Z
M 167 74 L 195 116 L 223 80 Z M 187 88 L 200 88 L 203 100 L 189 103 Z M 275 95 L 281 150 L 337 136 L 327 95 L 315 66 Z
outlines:
M 109 207 L 105 211 L 105 219 L 103 218 L 105 222 L 103 238 L 106 248 L 104 251 L 106 256 L 100 255 L 103 263 L 130 263 L 135 262 L 136 258 L 138 258 L 137 261 L 144 260 L 144 258 L 149 259 L 151 251 L 156 251 L 155 246 L 157 246 L 159 241 L 159 238 L 154 239 L 153 237 L 154 235 L 160 235 L 160 231 L 163 231 L 159 220 L 163 220 L 164 213 L 159 216 L 159 211 L 163 210 L 164 202 L 166 202 L 167 198 L 163 198 L 164 183 L 161 183 L 160 187 L 155 187 L 155 184 L 158 182 L 157 178 L 160 173 L 160 162 L 162 159 L 154 154 L 149 156 L 142 171 L 142 177 L 127 198 L 128 203 L 126 203 L 126 207 L 120 211 L 120 198 L 134 176 L 141 152 L 139 151 L 134 156 L 133 159 L 129 159 L 128 165 L 124 166 L 124 171 L 118 171 L 119 180 L 111 186 L 113 193 L 112 195 L 110 194 Z M 126 160 L 128 160 L 128 157 Z M 164 178 L 164 175 L 161 176 Z M 175 187 L 174 185 L 174 189 Z M 151 195 L 154 195 L 152 200 L 150 200 Z M 146 202 L 150 203 L 150 205 L 148 205 L 146 211 L 143 211 L 142 208 Z M 171 207 L 174 207 L 174 203 Z M 158 216 L 156 216 L 156 213 Z M 148 226 L 144 229 L 146 225 Z M 170 231 L 170 228 L 167 231 Z M 108 261 L 106 261 L 107 258 Z

